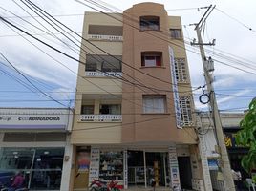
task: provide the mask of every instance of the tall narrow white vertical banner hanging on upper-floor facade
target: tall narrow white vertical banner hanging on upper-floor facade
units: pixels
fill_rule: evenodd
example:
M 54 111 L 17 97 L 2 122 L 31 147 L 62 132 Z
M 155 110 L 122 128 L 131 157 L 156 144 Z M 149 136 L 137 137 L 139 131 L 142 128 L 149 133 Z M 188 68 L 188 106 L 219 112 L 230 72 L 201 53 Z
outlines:
M 176 74 L 175 74 L 174 53 L 173 53 L 173 49 L 171 48 L 171 46 L 169 46 L 169 56 L 170 56 L 171 76 L 172 76 L 174 107 L 175 107 L 175 114 L 176 114 L 176 125 L 178 128 L 181 129 L 182 121 L 181 121 L 179 90 L 178 90 L 178 83 L 177 83 Z

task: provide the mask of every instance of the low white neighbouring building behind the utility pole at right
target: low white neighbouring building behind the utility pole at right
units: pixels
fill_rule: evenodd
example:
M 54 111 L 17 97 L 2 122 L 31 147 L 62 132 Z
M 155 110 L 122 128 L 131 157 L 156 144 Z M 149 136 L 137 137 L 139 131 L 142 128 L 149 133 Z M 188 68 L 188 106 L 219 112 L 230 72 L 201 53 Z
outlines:
M 235 135 L 240 130 L 239 123 L 243 119 L 245 114 L 243 113 L 221 113 L 222 125 L 224 130 L 225 145 L 230 159 L 231 168 L 235 171 L 239 171 L 242 174 L 242 180 L 245 182 L 249 175 L 245 172 L 241 166 L 241 159 L 247 153 L 247 148 L 238 146 L 235 142 Z M 201 114 L 206 155 L 208 158 L 208 164 L 210 168 L 212 186 L 216 190 L 224 190 L 220 180 L 217 179 L 218 175 L 218 158 L 219 154 L 216 152 L 216 137 L 213 130 L 213 122 L 207 113 Z M 244 184 L 242 182 L 242 184 Z M 243 185 L 242 185 L 243 186 Z

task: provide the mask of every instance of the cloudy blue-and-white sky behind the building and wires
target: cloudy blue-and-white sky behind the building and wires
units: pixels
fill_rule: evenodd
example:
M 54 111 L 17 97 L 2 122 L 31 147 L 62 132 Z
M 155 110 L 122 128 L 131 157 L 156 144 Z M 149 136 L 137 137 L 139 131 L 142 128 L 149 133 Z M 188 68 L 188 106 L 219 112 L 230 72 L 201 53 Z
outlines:
M 75 0 L 32 0 L 32 2 L 54 15 L 56 19 L 63 22 L 73 31 L 79 33 L 82 32 L 84 11 L 93 11 L 77 3 Z M 112 0 L 107 3 L 124 11 L 132 7 L 132 5 L 141 2 L 145 1 Z M 163 4 L 169 15 L 181 16 L 182 31 L 186 41 L 196 38 L 194 27 L 189 26 L 189 24 L 197 23 L 202 17 L 203 11 L 205 11 L 197 8 L 209 6 L 210 4 L 216 5 L 217 9 L 212 11 L 207 19 L 203 37 L 205 42 L 216 39 L 216 46 L 206 47 L 206 55 L 210 55 L 213 59 L 222 61 L 232 67 L 254 73 L 245 73 L 241 70 L 215 62 L 213 76 L 219 109 L 225 112 L 243 112 L 250 100 L 256 95 L 256 32 L 254 31 L 256 30 L 256 1 L 156 0 L 153 2 Z M 18 16 L 22 16 L 23 19 L 31 22 L 35 27 L 41 28 L 44 32 L 16 18 L 9 11 Z M 65 36 L 57 34 L 58 32 L 47 23 L 35 17 L 38 21 L 42 22 L 45 28 L 40 26 L 36 20 L 29 17 L 28 12 L 35 15 L 35 13 L 22 4 L 20 0 L 0 1 L 1 16 L 7 18 L 21 29 L 35 34 L 34 36 L 41 40 L 52 44 L 60 51 L 78 59 L 78 47 L 75 47 Z M 53 52 L 50 48 L 33 40 L 22 32 L 18 32 L 22 34 L 22 36 L 20 36 L 12 30 L 0 21 L 0 53 L 3 53 L 16 69 L 27 76 L 32 84 L 52 96 L 53 99 L 61 100 L 62 105 L 42 95 L 38 90 L 35 90 L 31 84 L 28 84 L 29 82 L 26 81 L 23 76 L 17 74 L 16 71 L 11 68 L 11 65 L 0 55 L 0 107 L 73 106 L 78 62 L 60 53 Z M 47 35 L 47 30 L 56 33 L 55 35 L 64 41 L 65 44 Z M 77 37 L 75 42 L 79 45 L 80 39 Z M 73 46 L 74 50 L 71 50 L 67 45 Z M 186 45 L 186 49 L 192 51 L 198 50 L 197 47 L 191 47 L 190 45 Z M 223 56 L 220 57 L 219 53 L 222 53 Z M 230 58 L 230 54 L 232 54 L 232 58 Z M 224 59 L 224 56 L 229 57 Z M 187 51 L 187 58 L 192 86 L 203 86 L 205 82 L 200 55 Z M 239 61 L 234 59 L 239 59 Z M 20 82 L 21 80 L 24 82 Z M 207 105 L 201 104 L 198 99 L 198 96 L 203 94 L 203 90 L 194 91 L 194 94 L 196 108 L 199 110 L 207 109 Z

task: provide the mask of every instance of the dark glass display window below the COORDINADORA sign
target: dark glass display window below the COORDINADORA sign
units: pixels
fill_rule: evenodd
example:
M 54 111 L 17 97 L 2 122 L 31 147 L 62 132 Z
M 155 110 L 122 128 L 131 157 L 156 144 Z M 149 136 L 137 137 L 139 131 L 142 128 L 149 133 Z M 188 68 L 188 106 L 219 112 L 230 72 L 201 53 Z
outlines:
M 1 148 L 0 181 L 9 186 L 20 173 L 27 188 L 59 189 L 63 156 L 64 148 Z

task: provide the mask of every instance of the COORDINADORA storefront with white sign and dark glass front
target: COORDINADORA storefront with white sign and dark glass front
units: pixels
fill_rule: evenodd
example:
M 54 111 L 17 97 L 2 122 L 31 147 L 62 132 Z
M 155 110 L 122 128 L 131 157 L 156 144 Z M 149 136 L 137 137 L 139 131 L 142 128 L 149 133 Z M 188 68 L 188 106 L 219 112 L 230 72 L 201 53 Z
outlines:
M 1 108 L 1 184 L 10 187 L 20 174 L 30 190 L 67 190 L 72 117 L 69 109 Z

